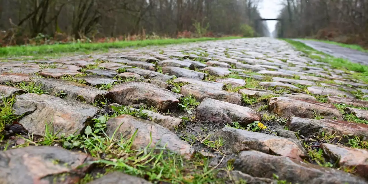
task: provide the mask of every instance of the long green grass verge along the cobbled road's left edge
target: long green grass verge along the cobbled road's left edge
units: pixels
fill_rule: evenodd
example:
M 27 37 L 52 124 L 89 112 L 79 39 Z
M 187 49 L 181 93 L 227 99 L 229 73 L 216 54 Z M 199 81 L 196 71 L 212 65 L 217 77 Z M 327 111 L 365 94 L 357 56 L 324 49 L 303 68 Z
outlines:
M 120 41 L 110 43 L 71 43 L 40 46 L 10 46 L 0 47 L 0 57 L 17 56 L 43 56 L 47 54 L 61 54 L 72 52 L 90 53 L 100 50 L 107 51 L 112 48 L 126 47 L 145 47 L 150 45 L 166 45 L 175 43 L 190 43 L 207 40 L 238 39 L 241 37 L 223 37 L 223 38 L 188 38 L 188 39 L 160 39 L 160 40 L 138 40 L 138 41 Z

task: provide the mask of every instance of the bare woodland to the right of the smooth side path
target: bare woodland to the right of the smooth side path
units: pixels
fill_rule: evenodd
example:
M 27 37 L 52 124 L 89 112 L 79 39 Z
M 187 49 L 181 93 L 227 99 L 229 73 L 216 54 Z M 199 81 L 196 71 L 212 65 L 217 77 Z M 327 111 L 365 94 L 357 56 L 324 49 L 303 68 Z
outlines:
M 283 18 L 284 37 L 313 36 L 368 46 L 368 0 L 283 1 L 279 18 Z

